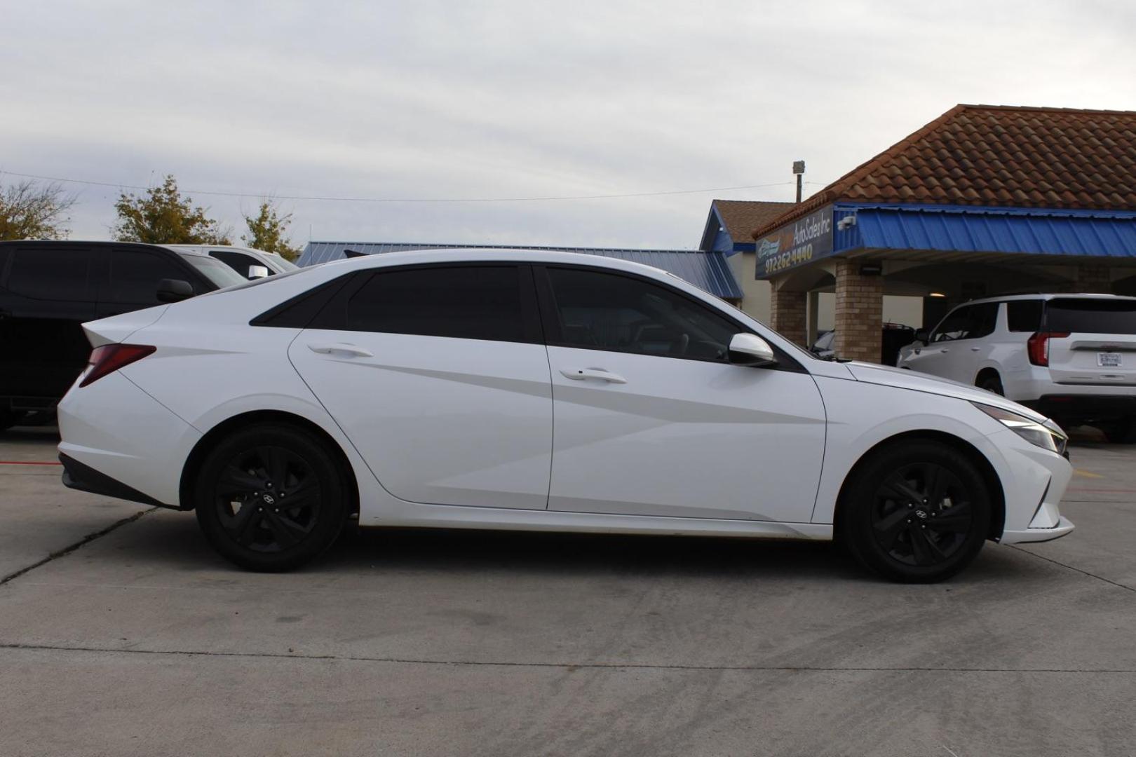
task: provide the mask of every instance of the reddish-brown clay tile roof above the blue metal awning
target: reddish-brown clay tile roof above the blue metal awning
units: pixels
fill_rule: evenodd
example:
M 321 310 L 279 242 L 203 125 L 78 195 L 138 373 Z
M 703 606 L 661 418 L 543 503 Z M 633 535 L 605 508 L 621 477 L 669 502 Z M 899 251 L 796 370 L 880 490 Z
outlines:
M 838 201 L 1136 210 L 1136 111 L 955 106 L 752 236 Z

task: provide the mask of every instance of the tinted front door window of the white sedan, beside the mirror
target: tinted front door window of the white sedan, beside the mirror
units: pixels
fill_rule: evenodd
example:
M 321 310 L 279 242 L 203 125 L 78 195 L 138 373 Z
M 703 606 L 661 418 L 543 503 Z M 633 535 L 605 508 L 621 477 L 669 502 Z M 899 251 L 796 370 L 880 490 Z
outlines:
M 741 329 L 668 287 L 586 269 L 550 268 L 559 344 L 668 358 L 727 359 Z

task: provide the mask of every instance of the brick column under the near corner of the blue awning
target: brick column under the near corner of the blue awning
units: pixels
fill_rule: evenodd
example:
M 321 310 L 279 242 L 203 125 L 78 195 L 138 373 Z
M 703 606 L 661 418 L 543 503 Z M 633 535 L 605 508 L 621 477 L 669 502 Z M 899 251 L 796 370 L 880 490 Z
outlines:
M 883 328 L 884 277 L 861 276 L 859 262 L 836 261 L 836 356 L 878 363 Z

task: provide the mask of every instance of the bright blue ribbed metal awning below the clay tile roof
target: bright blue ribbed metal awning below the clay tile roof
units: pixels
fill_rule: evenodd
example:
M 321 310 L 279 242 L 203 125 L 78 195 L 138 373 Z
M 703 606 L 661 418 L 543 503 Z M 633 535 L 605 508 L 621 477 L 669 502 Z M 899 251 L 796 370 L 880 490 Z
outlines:
M 1136 258 L 1136 212 L 838 205 L 854 212 L 844 249 Z

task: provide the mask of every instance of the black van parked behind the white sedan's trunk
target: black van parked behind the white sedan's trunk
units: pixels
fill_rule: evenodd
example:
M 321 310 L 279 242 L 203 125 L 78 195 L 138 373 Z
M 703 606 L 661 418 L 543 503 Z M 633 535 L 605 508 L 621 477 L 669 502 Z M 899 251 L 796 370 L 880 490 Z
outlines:
M 52 410 L 67 393 L 91 354 L 85 321 L 244 280 L 193 250 L 0 242 L 0 429 L 30 411 Z

